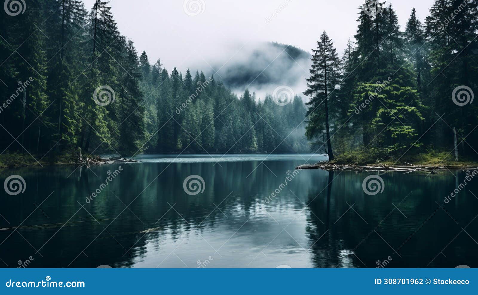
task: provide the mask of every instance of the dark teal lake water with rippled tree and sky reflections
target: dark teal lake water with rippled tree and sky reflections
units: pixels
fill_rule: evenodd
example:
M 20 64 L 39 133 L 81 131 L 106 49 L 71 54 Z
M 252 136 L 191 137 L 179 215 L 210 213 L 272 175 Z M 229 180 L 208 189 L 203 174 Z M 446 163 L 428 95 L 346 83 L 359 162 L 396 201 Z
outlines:
M 1 170 L 25 191 L 0 190 L 0 265 L 478 266 L 478 180 L 444 201 L 465 172 L 382 172 L 369 195 L 377 173 L 294 170 L 321 155 L 137 159 Z

